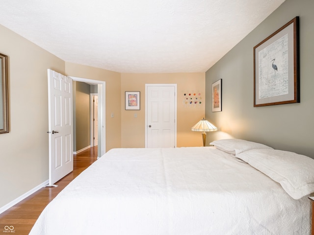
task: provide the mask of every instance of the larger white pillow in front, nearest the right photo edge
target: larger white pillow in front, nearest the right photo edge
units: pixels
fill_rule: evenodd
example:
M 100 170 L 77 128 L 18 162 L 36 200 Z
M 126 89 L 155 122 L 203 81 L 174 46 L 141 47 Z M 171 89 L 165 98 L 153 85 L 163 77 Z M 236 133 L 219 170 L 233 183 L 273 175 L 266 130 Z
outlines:
M 253 149 L 236 155 L 274 181 L 294 199 L 314 192 L 314 159 L 275 149 Z

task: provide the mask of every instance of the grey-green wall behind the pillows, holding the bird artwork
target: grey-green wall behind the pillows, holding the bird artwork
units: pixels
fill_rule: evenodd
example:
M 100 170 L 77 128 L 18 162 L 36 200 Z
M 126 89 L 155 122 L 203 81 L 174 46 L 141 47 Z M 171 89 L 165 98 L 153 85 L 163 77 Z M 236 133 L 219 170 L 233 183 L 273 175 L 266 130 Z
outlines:
M 241 138 L 314 158 L 314 1 L 286 0 L 206 72 L 206 117 L 217 124 L 210 141 Z M 253 47 L 300 17 L 301 102 L 253 107 Z M 211 84 L 222 78 L 222 112 L 211 112 Z

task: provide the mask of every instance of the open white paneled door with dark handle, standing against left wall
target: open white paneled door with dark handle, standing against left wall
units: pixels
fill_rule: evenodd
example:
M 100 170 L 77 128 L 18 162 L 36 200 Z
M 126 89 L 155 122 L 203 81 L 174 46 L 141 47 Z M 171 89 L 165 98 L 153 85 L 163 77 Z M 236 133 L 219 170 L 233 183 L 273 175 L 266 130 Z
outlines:
M 72 79 L 48 70 L 49 185 L 73 171 Z

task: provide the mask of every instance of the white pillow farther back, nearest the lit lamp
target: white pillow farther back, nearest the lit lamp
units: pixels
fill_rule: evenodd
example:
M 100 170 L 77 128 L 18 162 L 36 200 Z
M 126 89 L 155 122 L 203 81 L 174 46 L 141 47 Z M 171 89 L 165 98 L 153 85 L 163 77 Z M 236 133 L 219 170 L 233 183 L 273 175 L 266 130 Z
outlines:
M 267 145 L 264 145 L 262 143 L 256 143 L 252 141 L 244 141 L 239 139 L 225 139 L 225 140 L 218 140 L 218 141 L 212 141 L 210 143 L 211 145 L 214 145 L 216 148 L 236 155 L 241 152 L 250 150 L 250 149 L 273 149 Z

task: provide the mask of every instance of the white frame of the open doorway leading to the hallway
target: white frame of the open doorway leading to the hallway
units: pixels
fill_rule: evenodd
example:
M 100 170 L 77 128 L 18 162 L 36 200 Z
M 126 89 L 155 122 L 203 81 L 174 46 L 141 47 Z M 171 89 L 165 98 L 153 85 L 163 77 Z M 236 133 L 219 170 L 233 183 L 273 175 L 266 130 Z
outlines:
M 93 80 L 89 78 L 81 78 L 69 76 L 73 81 L 85 82 L 90 85 L 98 85 L 98 158 L 102 157 L 106 152 L 106 129 L 105 129 L 105 117 L 106 117 L 106 82 Z

